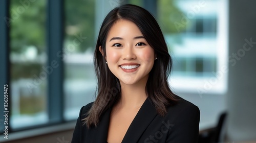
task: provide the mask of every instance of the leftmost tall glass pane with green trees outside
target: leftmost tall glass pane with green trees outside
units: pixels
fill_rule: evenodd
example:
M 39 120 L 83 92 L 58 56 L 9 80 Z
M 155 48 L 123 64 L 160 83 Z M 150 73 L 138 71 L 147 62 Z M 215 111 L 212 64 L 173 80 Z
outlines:
M 46 123 L 46 2 L 10 1 L 13 129 Z

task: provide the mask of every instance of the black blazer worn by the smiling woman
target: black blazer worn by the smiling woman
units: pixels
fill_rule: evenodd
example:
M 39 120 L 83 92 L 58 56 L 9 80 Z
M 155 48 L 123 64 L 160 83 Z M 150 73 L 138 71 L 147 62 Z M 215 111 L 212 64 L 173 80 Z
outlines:
M 102 114 L 97 127 L 88 129 L 82 126 L 81 120 L 86 117 L 92 104 L 81 108 L 71 143 L 106 143 L 111 108 Z M 199 120 L 199 108 L 182 98 L 178 104 L 167 108 L 165 116 L 158 115 L 150 100 L 146 99 L 124 135 L 122 143 L 194 143 L 198 141 Z

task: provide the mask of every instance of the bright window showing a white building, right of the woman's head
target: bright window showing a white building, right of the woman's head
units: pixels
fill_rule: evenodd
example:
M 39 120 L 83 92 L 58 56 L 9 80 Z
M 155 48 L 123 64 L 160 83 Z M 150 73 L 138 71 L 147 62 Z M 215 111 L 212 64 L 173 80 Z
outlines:
M 227 88 L 227 1 L 158 1 L 161 29 L 173 55 L 170 82 L 181 92 Z

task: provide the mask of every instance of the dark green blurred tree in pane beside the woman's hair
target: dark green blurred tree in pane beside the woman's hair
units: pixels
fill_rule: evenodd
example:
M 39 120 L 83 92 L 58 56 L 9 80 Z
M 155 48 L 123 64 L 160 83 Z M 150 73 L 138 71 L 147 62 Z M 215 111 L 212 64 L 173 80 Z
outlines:
M 95 46 L 95 1 L 65 0 L 65 48 L 73 43 L 77 36 L 86 37 L 75 46 L 75 52 L 84 52 Z

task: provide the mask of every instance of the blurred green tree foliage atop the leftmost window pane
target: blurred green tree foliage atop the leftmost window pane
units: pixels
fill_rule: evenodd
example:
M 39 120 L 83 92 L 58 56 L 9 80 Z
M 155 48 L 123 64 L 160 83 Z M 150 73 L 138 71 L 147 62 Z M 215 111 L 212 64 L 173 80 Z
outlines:
M 46 46 L 46 0 L 24 4 L 10 1 L 10 48 L 11 53 L 22 54 L 28 46 L 35 46 L 38 54 Z

